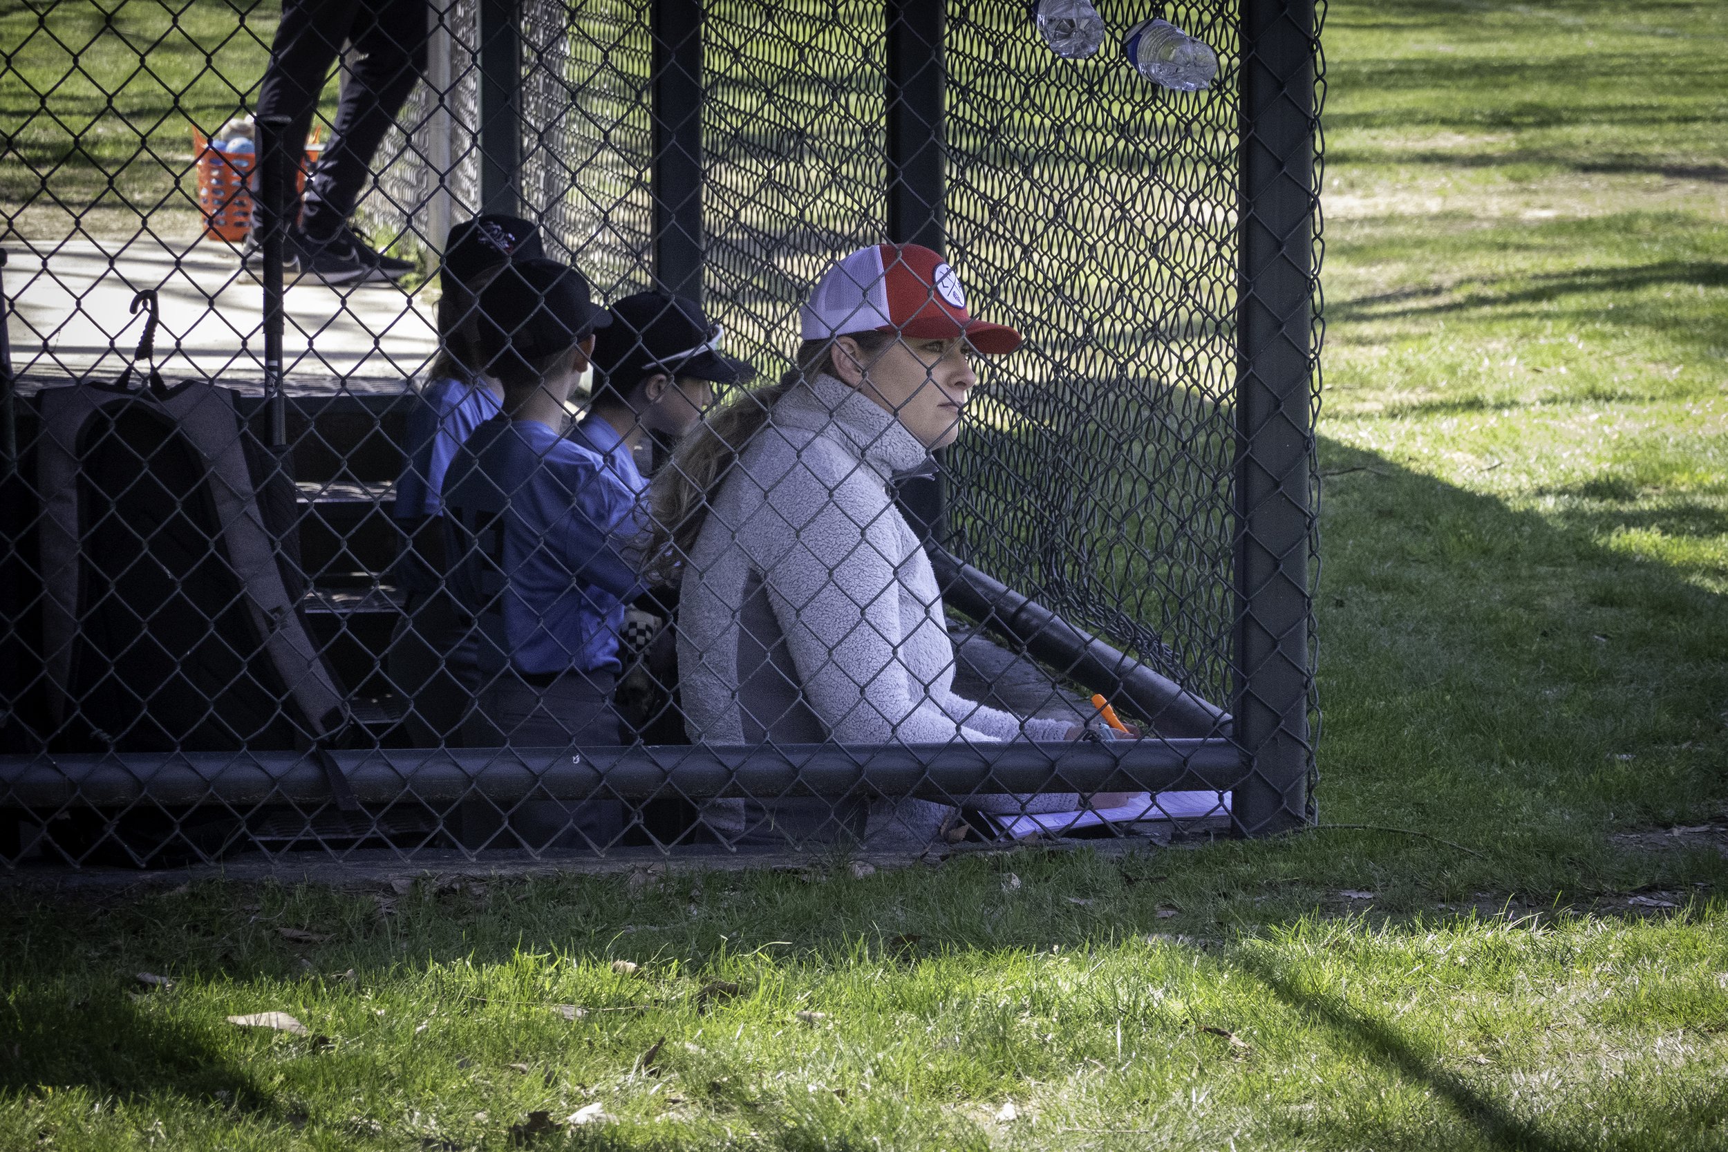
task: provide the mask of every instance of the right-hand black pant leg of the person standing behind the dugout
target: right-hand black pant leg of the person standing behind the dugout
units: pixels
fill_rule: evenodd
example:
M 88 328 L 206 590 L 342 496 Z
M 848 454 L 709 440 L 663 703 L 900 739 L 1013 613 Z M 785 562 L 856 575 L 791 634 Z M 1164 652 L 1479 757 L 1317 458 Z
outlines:
M 384 135 L 425 71 L 427 0 L 359 0 L 353 5 L 347 81 L 330 143 L 306 183 L 301 230 L 330 238 L 354 214 Z

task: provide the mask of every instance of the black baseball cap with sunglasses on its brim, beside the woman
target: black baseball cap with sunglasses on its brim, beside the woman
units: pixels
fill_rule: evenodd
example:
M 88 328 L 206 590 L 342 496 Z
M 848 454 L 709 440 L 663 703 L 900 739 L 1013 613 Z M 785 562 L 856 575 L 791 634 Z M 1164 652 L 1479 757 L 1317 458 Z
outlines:
M 715 383 L 752 380 L 755 368 L 721 352 L 721 335 L 689 297 L 638 292 L 612 306 L 612 326 L 594 339 L 594 371 L 613 389 L 660 371 Z

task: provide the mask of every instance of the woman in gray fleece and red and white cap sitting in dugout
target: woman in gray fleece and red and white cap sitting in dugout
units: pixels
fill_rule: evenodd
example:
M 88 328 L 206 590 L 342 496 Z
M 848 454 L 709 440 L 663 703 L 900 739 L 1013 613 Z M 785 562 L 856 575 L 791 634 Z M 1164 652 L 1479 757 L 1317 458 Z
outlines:
M 1020 347 L 975 320 L 954 269 L 919 245 L 854 252 L 802 309 L 797 368 L 715 413 L 655 477 L 660 579 L 679 592 L 689 736 L 712 744 L 1075 739 L 954 694 L 954 646 L 895 477 L 959 435 L 971 356 Z M 1073 798 L 1070 798 L 1071 801 Z M 1071 803 L 1068 807 L 1073 807 Z M 954 810 L 921 800 L 712 801 L 731 843 L 919 846 Z

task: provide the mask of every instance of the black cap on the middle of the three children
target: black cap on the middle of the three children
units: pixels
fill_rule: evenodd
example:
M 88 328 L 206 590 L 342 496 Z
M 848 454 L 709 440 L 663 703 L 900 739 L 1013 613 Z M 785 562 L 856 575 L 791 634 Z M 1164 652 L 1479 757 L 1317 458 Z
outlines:
M 510 261 L 480 288 L 479 337 L 484 364 L 515 352 L 539 361 L 565 352 L 596 328 L 612 323 L 589 299 L 588 276 L 569 264 L 539 257 Z

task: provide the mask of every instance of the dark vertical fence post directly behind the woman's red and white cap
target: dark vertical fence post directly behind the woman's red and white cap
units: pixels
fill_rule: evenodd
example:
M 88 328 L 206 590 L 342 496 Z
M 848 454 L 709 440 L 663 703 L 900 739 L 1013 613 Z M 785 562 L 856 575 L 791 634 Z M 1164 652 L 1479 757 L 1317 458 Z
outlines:
M 947 247 L 945 0 L 888 0 L 888 238 Z M 947 482 L 942 453 L 933 477 L 900 484 L 900 510 L 933 541 L 947 535 Z

